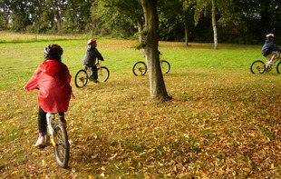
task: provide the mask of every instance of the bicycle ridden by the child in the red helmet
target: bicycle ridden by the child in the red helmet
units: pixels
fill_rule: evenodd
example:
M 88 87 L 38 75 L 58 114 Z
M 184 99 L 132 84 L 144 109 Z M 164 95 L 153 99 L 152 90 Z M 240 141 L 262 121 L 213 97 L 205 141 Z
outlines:
M 95 64 L 98 68 L 98 76 L 100 82 L 106 82 L 110 77 L 110 71 L 107 67 L 102 66 L 100 61 L 98 60 Z M 87 85 L 88 80 L 93 81 L 92 78 L 92 67 L 86 66 L 84 69 L 79 70 L 75 75 L 75 85 L 76 87 L 82 88 Z

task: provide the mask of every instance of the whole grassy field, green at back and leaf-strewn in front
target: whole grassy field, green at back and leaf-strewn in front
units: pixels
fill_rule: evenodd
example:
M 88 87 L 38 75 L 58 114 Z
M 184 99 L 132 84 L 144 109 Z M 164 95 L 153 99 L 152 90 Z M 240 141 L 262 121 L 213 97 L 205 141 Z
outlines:
M 0 33 L 1 35 L 1 33 Z M 5 36 L 5 35 L 2 35 Z M 25 35 L 8 39 L 24 38 Z M 37 91 L 23 86 L 43 62 L 44 46 L 63 47 L 71 75 L 82 69 L 88 39 L 15 42 L 0 37 L 0 178 L 278 178 L 281 174 L 280 75 L 252 75 L 265 60 L 258 45 L 160 42 L 172 100 L 150 101 L 144 60 L 132 41 L 99 39 L 111 76 L 75 87 L 66 113 L 69 168 L 53 149 L 34 148 Z

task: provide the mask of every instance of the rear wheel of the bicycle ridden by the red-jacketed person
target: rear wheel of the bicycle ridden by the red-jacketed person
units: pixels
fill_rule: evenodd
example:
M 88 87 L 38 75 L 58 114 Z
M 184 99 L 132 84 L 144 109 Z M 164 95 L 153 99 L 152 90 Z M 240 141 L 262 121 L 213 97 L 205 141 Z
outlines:
M 55 147 L 53 147 L 53 149 L 56 162 L 59 166 L 66 168 L 68 166 L 70 151 L 66 129 L 60 122 L 57 122 L 53 130 L 55 140 Z

